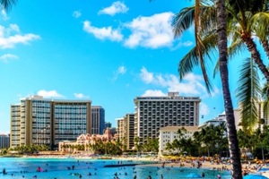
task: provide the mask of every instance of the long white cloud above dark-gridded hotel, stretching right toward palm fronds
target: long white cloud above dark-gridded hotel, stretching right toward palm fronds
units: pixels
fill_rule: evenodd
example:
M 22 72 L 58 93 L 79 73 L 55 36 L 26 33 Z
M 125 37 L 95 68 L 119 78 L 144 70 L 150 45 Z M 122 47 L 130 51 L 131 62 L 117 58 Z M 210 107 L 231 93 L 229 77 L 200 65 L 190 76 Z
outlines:
M 146 84 L 167 88 L 168 91 L 178 91 L 179 94 L 201 96 L 206 93 L 203 77 L 194 73 L 188 73 L 183 81 L 179 81 L 178 76 L 174 74 L 154 74 L 143 67 L 140 77 Z

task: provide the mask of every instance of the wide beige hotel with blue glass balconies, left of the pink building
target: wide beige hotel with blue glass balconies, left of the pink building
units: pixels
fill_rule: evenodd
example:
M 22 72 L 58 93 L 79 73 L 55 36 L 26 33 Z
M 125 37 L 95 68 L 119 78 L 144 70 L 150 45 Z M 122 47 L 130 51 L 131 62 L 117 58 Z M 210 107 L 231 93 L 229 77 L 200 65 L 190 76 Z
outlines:
M 90 100 L 52 100 L 40 96 L 22 98 L 11 106 L 11 147 L 75 141 L 91 133 Z

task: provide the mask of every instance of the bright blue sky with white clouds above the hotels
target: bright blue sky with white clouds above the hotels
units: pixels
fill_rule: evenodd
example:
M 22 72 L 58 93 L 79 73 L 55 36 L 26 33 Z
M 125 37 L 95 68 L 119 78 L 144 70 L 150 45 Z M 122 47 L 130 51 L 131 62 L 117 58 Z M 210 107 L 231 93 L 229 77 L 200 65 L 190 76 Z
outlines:
M 223 112 L 220 78 L 208 96 L 197 69 L 178 79 L 178 61 L 194 46 L 194 30 L 174 39 L 171 21 L 190 1 L 20 1 L 0 20 L 0 132 L 10 130 L 10 105 L 42 95 L 91 99 L 106 121 L 134 112 L 134 98 L 202 98 L 200 124 Z M 230 64 L 234 95 L 238 69 Z M 237 101 L 234 99 L 234 107 Z M 204 118 L 202 118 L 204 115 Z

